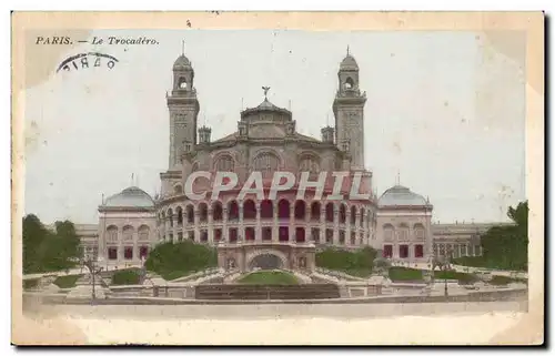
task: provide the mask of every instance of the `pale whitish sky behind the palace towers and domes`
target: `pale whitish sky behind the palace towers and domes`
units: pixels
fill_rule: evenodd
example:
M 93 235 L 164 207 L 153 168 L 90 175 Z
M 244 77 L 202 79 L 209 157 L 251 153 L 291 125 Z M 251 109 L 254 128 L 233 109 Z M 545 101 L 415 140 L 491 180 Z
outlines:
M 46 223 L 97 223 L 102 194 L 132 184 L 160 190 L 169 155 L 165 93 L 182 40 L 199 125 L 212 128 L 212 140 L 236 131 L 241 109 L 263 101 L 261 87 L 291 109 L 300 133 L 320 138 L 334 121 L 349 45 L 367 96 L 365 165 L 379 195 L 398 176 L 430 197 L 441 223 L 506 221 L 507 206 L 525 200 L 525 69 L 480 33 L 102 30 L 90 40 L 110 35 L 159 44 L 83 43 L 59 62 L 90 51 L 119 62 L 56 73 L 26 91 L 24 213 Z M 514 42 L 524 58 L 524 40 L 515 34 Z

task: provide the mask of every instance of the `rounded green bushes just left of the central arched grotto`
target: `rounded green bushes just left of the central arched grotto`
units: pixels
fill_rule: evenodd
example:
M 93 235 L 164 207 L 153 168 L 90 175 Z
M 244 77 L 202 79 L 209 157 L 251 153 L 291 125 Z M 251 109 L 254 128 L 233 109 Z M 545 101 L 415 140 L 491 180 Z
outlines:
M 147 269 L 168 281 L 216 265 L 218 254 L 214 248 L 189 240 L 157 245 L 145 262 Z

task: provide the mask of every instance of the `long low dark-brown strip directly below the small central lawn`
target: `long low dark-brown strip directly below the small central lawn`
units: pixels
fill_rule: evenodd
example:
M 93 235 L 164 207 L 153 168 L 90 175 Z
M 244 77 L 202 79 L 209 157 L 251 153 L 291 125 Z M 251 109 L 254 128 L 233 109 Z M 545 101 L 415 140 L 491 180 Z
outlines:
M 241 285 L 204 284 L 195 288 L 196 299 L 330 299 L 339 298 L 335 284 Z

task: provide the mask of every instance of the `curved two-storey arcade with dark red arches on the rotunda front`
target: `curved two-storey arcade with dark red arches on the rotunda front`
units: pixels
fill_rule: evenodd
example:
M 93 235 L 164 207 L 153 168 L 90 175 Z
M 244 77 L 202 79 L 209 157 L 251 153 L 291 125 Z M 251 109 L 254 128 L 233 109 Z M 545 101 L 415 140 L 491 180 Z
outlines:
M 373 237 L 370 208 L 340 201 L 231 200 L 174 205 L 158 215 L 162 241 L 314 242 L 360 246 Z

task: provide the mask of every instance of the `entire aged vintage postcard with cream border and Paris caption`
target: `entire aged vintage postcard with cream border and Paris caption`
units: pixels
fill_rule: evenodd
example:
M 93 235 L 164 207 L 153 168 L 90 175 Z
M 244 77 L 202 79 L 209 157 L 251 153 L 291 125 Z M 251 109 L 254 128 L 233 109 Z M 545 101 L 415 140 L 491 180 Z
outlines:
M 543 13 L 12 30 L 13 344 L 543 343 Z

